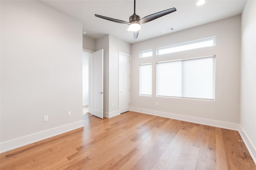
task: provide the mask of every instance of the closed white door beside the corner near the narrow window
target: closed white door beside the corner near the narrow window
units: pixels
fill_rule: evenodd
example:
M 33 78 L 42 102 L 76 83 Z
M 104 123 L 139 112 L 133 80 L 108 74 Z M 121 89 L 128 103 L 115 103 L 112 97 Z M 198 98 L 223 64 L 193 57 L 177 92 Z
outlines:
M 130 55 L 119 52 L 119 113 L 130 110 Z

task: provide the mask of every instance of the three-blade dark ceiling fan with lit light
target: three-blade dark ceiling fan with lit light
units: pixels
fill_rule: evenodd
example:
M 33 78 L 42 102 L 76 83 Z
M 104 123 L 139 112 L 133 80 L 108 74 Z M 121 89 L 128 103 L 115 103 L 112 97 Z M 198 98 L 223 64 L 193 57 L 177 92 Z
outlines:
M 130 16 L 129 18 L 129 22 L 126 22 L 126 21 L 122 21 L 122 20 L 117 20 L 117 19 L 114 19 L 114 18 L 109 18 L 109 17 L 105 17 L 105 16 L 100 16 L 98 14 L 94 14 L 96 17 L 99 17 L 99 18 L 103 18 L 105 20 L 109 20 L 109 21 L 113 21 L 113 22 L 117 22 L 117 23 L 125 23 L 125 24 L 128 24 L 129 25 L 129 28 L 127 29 L 128 31 L 133 31 L 133 36 L 134 36 L 134 39 L 137 39 L 138 38 L 138 35 L 139 35 L 139 30 L 140 30 L 140 25 L 142 23 L 147 23 L 149 21 L 152 21 L 152 20 L 155 20 L 156 18 L 160 18 L 162 16 L 165 16 L 167 14 L 170 14 L 172 12 L 175 12 L 176 11 L 176 8 L 170 8 L 168 10 L 164 10 L 164 11 L 161 11 L 161 12 L 157 12 L 155 14 L 151 14 L 149 16 L 146 16 L 142 19 L 140 19 L 140 16 L 138 16 L 136 13 L 135 13 L 135 0 L 134 0 L 134 14 L 132 14 L 132 16 Z

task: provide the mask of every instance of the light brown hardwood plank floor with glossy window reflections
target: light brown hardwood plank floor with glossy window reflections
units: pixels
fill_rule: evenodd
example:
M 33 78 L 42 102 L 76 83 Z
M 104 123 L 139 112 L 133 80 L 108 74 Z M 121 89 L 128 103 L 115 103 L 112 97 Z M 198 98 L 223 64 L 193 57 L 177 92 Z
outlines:
M 0 155 L 1 170 L 256 170 L 237 131 L 126 112 Z

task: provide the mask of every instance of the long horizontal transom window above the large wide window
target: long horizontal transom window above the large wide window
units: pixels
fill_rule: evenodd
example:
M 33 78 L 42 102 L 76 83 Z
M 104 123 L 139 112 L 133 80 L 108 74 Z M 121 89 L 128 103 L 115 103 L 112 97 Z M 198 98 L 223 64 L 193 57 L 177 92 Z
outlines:
M 210 37 L 205 39 L 199 39 L 196 41 L 190 41 L 186 43 L 171 45 L 168 47 L 161 47 L 157 49 L 157 55 L 174 53 L 178 51 L 185 51 L 191 49 L 198 49 L 202 47 L 210 47 L 216 45 L 216 37 Z

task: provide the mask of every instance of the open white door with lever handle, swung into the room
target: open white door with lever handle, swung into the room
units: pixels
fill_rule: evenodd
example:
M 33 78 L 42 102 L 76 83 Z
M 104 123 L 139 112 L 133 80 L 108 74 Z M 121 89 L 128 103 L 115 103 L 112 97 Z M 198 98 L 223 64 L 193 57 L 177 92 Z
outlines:
M 92 108 L 91 114 L 103 119 L 103 49 L 92 53 L 92 65 L 91 69 L 93 78 L 91 79 L 93 83 L 91 85 L 92 90 Z

